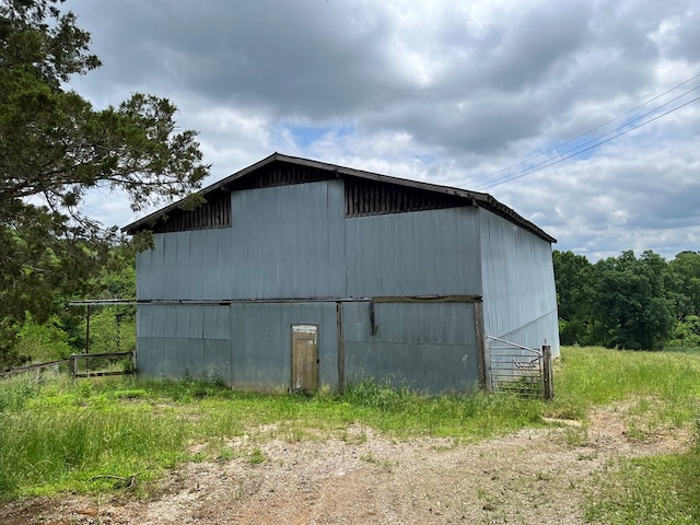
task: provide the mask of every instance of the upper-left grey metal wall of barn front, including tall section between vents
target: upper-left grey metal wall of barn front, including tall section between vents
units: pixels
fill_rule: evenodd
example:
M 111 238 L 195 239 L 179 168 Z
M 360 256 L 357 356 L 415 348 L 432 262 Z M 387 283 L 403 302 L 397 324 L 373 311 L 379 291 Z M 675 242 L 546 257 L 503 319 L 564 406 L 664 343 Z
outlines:
M 341 180 L 235 191 L 231 228 L 154 235 L 137 257 L 137 296 L 342 296 L 343 209 Z

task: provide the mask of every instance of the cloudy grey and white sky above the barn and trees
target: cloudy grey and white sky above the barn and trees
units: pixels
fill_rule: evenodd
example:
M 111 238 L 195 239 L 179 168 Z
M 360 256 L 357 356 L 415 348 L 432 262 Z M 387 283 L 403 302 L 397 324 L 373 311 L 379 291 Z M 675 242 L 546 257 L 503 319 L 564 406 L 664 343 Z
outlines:
M 95 108 L 170 98 L 211 184 L 280 152 L 492 195 L 595 261 L 700 250 L 697 0 L 67 0 Z M 92 194 L 125 225 L 128 199 Z

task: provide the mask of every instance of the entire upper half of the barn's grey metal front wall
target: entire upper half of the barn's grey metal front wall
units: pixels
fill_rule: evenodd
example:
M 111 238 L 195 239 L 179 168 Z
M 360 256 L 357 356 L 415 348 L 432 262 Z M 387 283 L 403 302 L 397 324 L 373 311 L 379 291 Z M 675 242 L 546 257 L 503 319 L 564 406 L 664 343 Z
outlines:
M 232 194 L 232 226 L 155 234 L 140 300 L 479 295 L 478 209 L 345 217 L 341 180 Z

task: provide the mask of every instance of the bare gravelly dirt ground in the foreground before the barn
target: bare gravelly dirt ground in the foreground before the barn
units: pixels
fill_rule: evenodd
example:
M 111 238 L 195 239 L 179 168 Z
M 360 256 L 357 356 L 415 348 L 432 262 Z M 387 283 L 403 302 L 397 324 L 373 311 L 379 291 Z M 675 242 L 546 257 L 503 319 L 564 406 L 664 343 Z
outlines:
M 35 499 L 0 509 L 0 524 L 581 524 L 592 474 L 623 457 L 682 451 L 688 434 L 626 431 L 626 407 L 478 444 L 350 439 L 261 444 L 260 463 L 191 463 L 148 501 Z

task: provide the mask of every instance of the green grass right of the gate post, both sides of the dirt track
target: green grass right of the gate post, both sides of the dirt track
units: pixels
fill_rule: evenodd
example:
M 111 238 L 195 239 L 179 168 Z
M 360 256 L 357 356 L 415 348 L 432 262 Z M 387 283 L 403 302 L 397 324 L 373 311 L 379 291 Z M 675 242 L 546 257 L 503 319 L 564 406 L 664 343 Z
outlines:
M 700 523 L 700 354 L 565 348 L 557 373 L 556 410 L 581 416 L 594 406 L 628 402 L 627 432 L 645 440 L 660 429 L 693 428 L 685 454 L 626 459 L 591 482 L 592 523 Z

